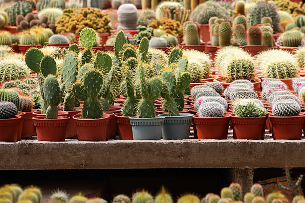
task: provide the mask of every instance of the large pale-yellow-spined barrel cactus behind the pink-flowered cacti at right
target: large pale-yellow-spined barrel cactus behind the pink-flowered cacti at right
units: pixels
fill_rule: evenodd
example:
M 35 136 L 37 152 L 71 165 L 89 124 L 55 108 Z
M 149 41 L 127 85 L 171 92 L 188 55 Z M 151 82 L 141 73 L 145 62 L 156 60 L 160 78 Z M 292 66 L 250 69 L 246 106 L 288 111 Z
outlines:
M 262 68 L 266 78 L 295 78 L 298 76 L 298 62 L 287 51 L 267 50 L 257 55 L 256 65 Z

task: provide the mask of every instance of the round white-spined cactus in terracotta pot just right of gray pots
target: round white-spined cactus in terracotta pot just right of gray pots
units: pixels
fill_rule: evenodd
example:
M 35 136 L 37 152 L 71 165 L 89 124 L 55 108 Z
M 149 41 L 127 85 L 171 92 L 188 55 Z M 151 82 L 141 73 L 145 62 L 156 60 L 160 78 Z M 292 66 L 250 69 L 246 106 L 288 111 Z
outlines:
M 199 97 L 198 115 L 193 116 L 198 139 L 227 139 L 230 116 L 227 103 L 221 97 Z M 195 129 L 194 129 L 195 130 Z

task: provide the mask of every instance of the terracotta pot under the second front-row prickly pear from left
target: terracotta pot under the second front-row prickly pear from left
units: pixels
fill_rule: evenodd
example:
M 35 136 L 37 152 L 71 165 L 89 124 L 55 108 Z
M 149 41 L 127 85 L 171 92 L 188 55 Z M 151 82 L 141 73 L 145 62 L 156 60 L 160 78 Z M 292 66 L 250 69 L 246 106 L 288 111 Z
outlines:
M 81 119 L 74 115 L 76 132 L 80 141 L 106 141 L 107 125 L 109 115 L 103 113 L 103 118 L 98 119 Z

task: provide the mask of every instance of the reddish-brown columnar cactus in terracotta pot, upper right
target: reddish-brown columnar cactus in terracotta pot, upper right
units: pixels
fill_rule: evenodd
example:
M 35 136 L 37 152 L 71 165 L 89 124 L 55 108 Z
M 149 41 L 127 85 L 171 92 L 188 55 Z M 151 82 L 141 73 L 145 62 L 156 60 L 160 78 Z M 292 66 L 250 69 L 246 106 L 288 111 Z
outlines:
M 250 55 L 255 56 L 259 52 L 266 50 L 267 46 L 262 45 L 263 30 L 260 26 L 249 26 L 247 29 L 247 45 L 243 49 Z

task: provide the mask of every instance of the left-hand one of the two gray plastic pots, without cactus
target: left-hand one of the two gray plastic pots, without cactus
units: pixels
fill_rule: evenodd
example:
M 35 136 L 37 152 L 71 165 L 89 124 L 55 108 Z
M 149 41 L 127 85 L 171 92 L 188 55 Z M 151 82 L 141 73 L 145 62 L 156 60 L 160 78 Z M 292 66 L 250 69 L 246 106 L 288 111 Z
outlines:
M 136 118 L 130 117 L 134 140 L 159 140 L 164 117 Z

